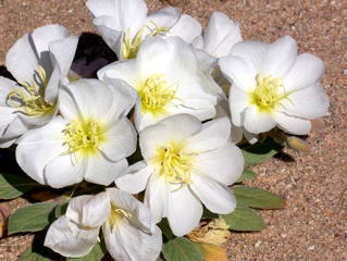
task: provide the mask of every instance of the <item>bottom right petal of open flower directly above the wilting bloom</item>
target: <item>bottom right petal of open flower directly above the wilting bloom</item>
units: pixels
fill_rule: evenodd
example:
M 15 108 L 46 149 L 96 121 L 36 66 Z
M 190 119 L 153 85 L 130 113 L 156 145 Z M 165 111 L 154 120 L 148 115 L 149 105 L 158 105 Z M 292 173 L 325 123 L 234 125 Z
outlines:
M 87 169 L 85 179 L 95 184 L 108 186 L 127 167 L 127 161 L 111 162 L 101 153 L 85 159 Z

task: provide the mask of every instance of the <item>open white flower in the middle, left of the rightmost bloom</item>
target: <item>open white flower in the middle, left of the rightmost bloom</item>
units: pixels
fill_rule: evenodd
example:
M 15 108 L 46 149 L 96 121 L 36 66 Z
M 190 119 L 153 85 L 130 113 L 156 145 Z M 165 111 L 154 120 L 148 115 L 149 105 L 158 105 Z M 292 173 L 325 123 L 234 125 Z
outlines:
M 178 113 L 193 114 L 200 121 L 215 114 L 216 97 L 206 91 L 210 87 L 197 59 L 178 37 L 149 38 L 136 59 L 110 64 L 98 72 L 98 77 L 124 79 L 138 91 L 138 130 Z

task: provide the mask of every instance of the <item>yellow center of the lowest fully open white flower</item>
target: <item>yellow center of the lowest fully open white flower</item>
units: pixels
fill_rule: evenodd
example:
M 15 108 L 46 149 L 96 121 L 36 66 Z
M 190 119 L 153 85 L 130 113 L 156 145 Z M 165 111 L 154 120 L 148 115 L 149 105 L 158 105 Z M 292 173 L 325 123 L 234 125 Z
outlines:
M 160 175 L 165 175 L 170 183 L 181 184 L 182 186 L 175 190 L 182 189 L 193 184 L 191 170 L 194 167 L 195 157 L 198 152 L 184 152 L 185 144 L 171 141 L 164 147 L 158 148 L 158 153 L 153 158 L 153 162 L 160 165 Z

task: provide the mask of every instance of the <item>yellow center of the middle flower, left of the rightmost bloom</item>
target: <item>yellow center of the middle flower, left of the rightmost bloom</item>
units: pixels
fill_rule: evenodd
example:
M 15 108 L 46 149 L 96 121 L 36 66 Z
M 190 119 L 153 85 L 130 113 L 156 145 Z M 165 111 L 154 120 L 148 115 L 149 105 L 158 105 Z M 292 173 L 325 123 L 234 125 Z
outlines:
M 138 94 L 141 99 L 142 115 L 147 111 L 153 114 L 163 112 L 162 107 L 175 98 L 178 86 L 176 89 L 171 89 L 171 86 L 162 77 L 163 75 L 153 74 L 139 88 Z

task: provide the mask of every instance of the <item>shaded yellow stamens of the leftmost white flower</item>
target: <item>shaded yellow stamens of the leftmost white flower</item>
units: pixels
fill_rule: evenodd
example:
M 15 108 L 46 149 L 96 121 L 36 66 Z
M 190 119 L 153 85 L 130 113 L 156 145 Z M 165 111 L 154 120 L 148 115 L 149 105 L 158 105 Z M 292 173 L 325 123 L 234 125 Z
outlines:
M 37 76 L 37 75 L 36 75 Z M 47 78 L 45 70 L 38 66 L 38 80 L 39 85 L 47 86 Z M 13 88 L 9 94 L 9 101 L 13 107 L 23 110 L 29 116 L 41 116 L 51 112 L 54 105 L 51 105 L 45 101 L 39 94 L 39 88 L 33 78 L 28 78 L 27 82 L 18 82 L 24 88 Z

